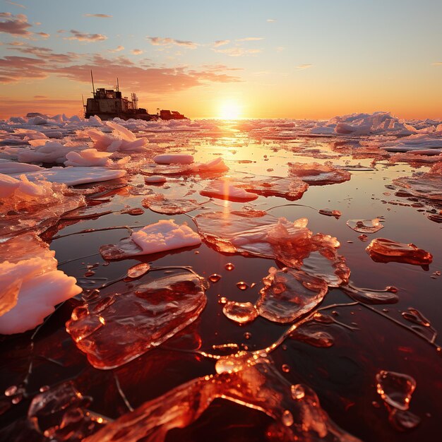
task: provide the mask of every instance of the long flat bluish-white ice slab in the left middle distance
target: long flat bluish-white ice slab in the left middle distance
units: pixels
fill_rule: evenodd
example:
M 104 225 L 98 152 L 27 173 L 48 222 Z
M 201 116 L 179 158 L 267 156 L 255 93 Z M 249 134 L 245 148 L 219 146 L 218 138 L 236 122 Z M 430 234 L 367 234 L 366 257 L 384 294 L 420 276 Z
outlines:
M 109 169 L 107 167 L 52 167 L 38 172 L 25 173 L 30 181 L 46 179 L 52 183 L 64 183 L 68 186 L 76 184 L 95 183 L 109 181 L 126 175 L 124 169 Z

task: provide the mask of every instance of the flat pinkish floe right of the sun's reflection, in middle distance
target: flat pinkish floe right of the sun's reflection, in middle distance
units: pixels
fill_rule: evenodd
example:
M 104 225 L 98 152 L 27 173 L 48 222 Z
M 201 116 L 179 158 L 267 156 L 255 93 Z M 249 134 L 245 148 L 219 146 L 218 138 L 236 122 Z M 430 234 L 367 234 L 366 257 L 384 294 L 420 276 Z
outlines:
M 352 177 L 350 172 L 337 169 L 330 162 L 325 162 L 324 165 L 318 162 L 308 164 L 301 162 L 289 163 L 289 173 L 309 183 L 310 186 L 342 183 Z

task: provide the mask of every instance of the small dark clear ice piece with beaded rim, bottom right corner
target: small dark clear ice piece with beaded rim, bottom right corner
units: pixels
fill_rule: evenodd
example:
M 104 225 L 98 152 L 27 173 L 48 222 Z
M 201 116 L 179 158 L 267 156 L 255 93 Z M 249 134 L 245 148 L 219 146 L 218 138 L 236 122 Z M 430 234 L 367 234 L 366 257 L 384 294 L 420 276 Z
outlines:
M 408 410 L 416 381 L 411 376 L 381 370 L 376 374 L 376 390 L 381 398 L 398 410 Z

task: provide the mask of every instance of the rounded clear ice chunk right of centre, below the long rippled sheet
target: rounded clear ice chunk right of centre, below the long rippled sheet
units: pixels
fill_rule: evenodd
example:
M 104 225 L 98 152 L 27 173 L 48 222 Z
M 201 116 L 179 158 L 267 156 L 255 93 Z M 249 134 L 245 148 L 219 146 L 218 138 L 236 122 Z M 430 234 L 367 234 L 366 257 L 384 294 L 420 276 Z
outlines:
M 277 270 L 272 267 L 263 278 L 258 313 L 269 321 L 289 323 L 313 310 L 328 292 L 323 279 L 299 270 Z

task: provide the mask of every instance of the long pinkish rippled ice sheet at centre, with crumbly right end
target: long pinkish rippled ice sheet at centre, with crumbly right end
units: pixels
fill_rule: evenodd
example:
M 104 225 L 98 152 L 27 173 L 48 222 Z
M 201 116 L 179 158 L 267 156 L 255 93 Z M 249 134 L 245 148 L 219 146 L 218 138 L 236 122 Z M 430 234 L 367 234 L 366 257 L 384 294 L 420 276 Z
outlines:
M 193 219 L 201 237 L 217 251 L 277 259 L 310 275 L 319 275 L 330 285 L 350 277 L 345 260 L 339 256 L 339 241 L 327 234 L 315 234 L 301 218 L 290 222 L 260 210 L 201 213 Z M 324 265 L 323 261 L 327 263 Z M 324 276 L 329 272 L 330 275 Z

